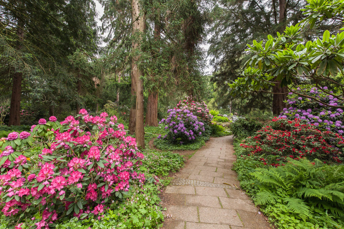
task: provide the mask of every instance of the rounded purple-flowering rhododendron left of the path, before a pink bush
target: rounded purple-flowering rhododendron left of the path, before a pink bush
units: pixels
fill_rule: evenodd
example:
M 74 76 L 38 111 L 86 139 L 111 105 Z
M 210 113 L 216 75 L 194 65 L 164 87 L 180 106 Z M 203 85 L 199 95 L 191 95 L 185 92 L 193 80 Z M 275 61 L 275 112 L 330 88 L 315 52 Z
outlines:
M 168 116 L 159 123 L 165 124 L 165 129 L 169 130 L 163 138 L 171 142 L 192 142 L 205 130 L 203 122 L 198 121 L 197 116 L 189 110 L 173 108 L 167 113 Z M 158 138 L 161 138 L 161 135 Z

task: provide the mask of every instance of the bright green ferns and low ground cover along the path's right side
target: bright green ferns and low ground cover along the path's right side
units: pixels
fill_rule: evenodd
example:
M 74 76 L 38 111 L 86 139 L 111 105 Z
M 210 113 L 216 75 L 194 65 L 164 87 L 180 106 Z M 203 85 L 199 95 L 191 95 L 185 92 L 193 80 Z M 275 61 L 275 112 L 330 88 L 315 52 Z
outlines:
M 281 229 L 344 226 L 344 166 L 290 160 L 285 166 L 264 165 L 256 155 L 243 155 L 235 141 L 240 186 Z

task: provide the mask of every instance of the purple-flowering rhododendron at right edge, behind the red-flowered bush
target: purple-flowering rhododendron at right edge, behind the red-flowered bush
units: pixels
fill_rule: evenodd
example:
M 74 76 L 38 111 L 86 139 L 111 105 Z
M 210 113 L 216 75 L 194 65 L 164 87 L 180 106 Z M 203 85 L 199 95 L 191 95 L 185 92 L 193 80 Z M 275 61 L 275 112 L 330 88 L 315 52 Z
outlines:
M 327 93 L 317 88 L 297 88 L 295 92 L 304 93 L 329 105 L 344 105 L 343 101 L 328 94 L 333 92 L 327 90 L 327 87 L 323 87 L 322 90 L 327 91 Z M 288 109 L 284 108 L 280 117 L 288 119 L 299 118 L 304 123 L 315 125 L 319 130 L 330 130 L 334 133 L 344 134 L 344 113 L 341 108 L 330 107 L 293 92 L 289 93 L 286 102 L 290 104 L 290 107 Z

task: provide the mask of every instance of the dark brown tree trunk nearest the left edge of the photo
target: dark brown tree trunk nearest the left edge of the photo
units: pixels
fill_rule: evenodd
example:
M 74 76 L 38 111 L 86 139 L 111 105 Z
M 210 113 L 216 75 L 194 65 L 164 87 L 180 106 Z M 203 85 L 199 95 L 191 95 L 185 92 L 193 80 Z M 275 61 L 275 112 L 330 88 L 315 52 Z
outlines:
M 19 5 L 23 4 L 19 2 Z M 20 50 L 22 48 L 21 43 L 24 41 L 24 23 L 18 19 L 17 25 L 17 36 L 18 44 L 16 49 Z M 12 96 L 11 96 L 11 105 L 10 105 L 10 117 L 8 125 L 19 126 L 20 125 L 20 101 L 21 101 L 21 83 L 22 83 L 22 72 L 14 72 L 12 80 Z

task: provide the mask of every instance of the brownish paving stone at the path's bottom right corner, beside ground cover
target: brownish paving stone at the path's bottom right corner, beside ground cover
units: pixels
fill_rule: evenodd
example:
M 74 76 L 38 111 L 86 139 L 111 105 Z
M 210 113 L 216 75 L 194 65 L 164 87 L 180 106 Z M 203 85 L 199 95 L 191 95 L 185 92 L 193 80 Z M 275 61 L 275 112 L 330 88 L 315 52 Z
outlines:
M 269 229 L 270 228 L 270 225 L 265 220 L 264 216 L 260 214 L 243 211 L 243 210 L 237 210 L 237 213 L 240 215 L 241 220 L 243 220 L 244 226 L 249 229 Z

